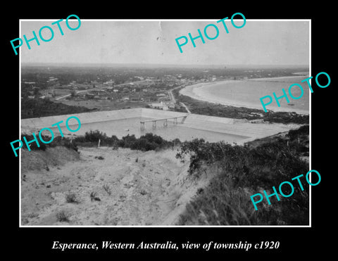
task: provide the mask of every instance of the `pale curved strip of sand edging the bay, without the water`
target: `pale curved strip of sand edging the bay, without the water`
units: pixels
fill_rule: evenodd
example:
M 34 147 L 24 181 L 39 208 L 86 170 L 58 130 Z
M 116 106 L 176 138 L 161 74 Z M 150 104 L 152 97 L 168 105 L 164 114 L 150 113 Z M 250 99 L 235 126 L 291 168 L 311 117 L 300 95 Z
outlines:
M 225 98 L 218 98 L 216 96 L 213 96 L 212 94 L 209 94 L 208 91 L 206 91 L 206 88 L 209 85 L 214 85 L 214 84 L 227 84 L 229 82 L 257 82 L 257 81 L 266 81 L 267 79 L 272 79 L 271 82 L 278 82 L 276 79 L 285 79 L 285 78 L 299 78 L 303 77 L 306 79 L 306 75 L 292 75 L 292 76 L 286 76 L 286 77 L 265 77 L 265 78 L 253 78 L 253 79 L 225 79 L 225 80 L 220 80 L 220 81 L 215 81 L 215 82 L 199 82 L 196 84 L 188 85 L 184 87 L 183 89 L 180 89 L 179 94 L 182 94 L 184 96 L 189 96 L 190 98 L 194 98 L 198 101 L 205 101 L 208 103 L 213 103 L 213 104 L 220 104 L 223 106 L 234 106 L 234 107 L 244 107 L 244 108 L 251 108 L 251 109 L 258 109 L 258 110 L 263 110 L 262 106 L 256 106 L 253 103 L 244 103 L 241 101 L 233 101 L 233 100 L 227 100 Z M 204 88 L 204 89 L 203 89 Z M 292 107 L 292 106 L 290 106 Z M 273 112 L 295 112 L 298 114 L 305 114 L 308 115 L 310 112 L 308 110 L 301 110 L 298 108 L 280 108 L 277 106 L 270 106 L 268 110 L 271 110 Z

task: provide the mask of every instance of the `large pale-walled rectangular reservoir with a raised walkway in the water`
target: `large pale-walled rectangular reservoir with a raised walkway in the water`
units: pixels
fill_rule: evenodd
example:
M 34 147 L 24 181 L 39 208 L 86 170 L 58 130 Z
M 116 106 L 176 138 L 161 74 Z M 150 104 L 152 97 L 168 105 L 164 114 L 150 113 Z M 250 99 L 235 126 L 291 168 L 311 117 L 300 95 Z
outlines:
M 56 122 L 70 116 L 80 119 L 81 128 L 72 133 L 61 124 L 65 136 L 84 135 L 90 130 L 99 130 L 108 136 L 126 136 L 134 134 L 139 137 L 146 133 L 154 133 L 164 139 L 205 139 L 216 142 L 225 141 L 230 144 L 244 144 L 246 141 L 270 136 L 279 132 L 286 132 L 293 127 L 282 124 L 250 123 L 246 120 L 235 120 L 226 117 L 177 113 L 148 108 L 125 110 L 108 110 L 94 113 L 77 113 L 74 115 L 58 115 L 21 120 L 22 133 L 31 134 L 44 127 L 51 127 Z M 165 120 L 167 119 L 167 120 Z M 142 128 L 142 123 L 144 127 Z M 51 127 L 54 134 L 59 134 L 57 127 Z

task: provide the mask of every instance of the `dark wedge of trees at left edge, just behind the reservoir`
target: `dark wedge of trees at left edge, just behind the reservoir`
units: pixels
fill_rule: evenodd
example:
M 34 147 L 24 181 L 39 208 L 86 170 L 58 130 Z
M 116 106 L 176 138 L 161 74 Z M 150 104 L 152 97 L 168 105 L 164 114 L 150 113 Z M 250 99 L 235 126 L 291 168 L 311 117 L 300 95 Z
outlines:
M 21 118 L 46 117 L 73 113 L 87 113 L 92 111 L 82 106 L 68 106 L 64 103 L 54 103 L 47 98 L 22 98 Z M 95 109 L 94 109 L 95 110 Z

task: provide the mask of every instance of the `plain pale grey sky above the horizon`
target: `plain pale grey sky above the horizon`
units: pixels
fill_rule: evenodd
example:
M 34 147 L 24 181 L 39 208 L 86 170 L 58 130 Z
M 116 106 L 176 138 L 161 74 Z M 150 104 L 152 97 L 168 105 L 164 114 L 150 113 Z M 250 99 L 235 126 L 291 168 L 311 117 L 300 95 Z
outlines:
M 177 65 L 308 65 L 308 20 L 246 20 L 242 28 L 225 21 L 229 33 L 217 20 L 81 20 L 77 30 L 69 30 L 65 19 L 21 20 L 21 34 L 27 39 L 32 31 L 39 34 L 45 25 L 54 30 L 50 42 L 39 39 L 40 45 L 30 42 L 20 47 L 22 63 L 144 63 Z M 235 20 L 242 25 L 243 20 Z M 77 27 L 77 20 L 70 20 L 70 27 Z M 194 48 L 188 33 L 204 34 L 204 27 L 214 24 L 219 35 L 205 44 L 196 39 Z M 215 36 L 215 28 L 208 27 L 209 37 Z M 180 53 L 175 39 L 186 36 L 189 42 Z M 42 37 L 49 39 L 48 29 Z M 181 39 L 180 41 L 183 41 Z

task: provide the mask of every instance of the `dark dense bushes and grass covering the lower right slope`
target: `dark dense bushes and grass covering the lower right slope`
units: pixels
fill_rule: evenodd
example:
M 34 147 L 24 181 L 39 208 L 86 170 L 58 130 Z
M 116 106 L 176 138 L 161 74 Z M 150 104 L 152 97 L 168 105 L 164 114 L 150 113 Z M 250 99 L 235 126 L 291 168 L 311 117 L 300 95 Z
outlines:
M 289 198 L 275 197 L 268 205 L 264 199 L 253 208 L 250 196 L 278 188 L 284 181 L 308 172 L 308 163 L 301 156 L 308 153 L 308 126 L 290 131 L 286 138 L 276 137 L 259 146 L 231 146 L 223 142 L 208 143 L 203 139 L 186 141 L 177 158 L 189 155 L 189 172 L 202 173 L 201 166 L 218 167 L 211 183 L 199 190 L 187 205 L 180 224 L 308 224 L 308 186 L 304 191 L 294 184 Z M 283 188 L 284 189 L 284 188 Z M 288 194 L 290 191 L 283 191 Z

